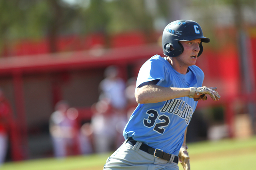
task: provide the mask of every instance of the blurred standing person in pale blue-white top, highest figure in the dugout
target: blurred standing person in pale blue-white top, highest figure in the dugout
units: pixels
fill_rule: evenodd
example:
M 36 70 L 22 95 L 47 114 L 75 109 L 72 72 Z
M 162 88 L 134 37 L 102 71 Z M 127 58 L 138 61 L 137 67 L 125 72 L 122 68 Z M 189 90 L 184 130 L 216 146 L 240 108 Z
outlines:
M 125 81 L 118 77 L 119 70 L 116 66 L 109 66 L 104 71 L 105 79 L 100 82 L 101 92 L 110 99 L 113 109 L 123 110 L 126 107 L 124 90 Z

